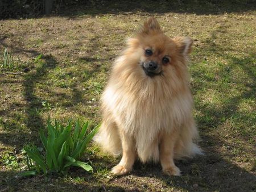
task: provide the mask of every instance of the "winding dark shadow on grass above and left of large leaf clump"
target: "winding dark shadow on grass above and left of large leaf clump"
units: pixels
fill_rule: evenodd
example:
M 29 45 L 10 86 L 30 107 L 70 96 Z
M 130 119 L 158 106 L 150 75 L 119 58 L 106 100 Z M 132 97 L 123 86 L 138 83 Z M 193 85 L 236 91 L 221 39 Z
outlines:
M 7 47 L 5 45 L 5 47 Z M 26 52 L 26 50 L 16 49 L 18 52 Z M 28 51 L 33 55 L 39 56 L 40 53 L 37 51 Z M 39 94 L 36 93 L 35 86 L 39 84 L 41 81 L 45 81 L 47 79 L 47 73 L 49 69 L 53 69 L 56 66 L 56 60 L 53 56 L 42 56 L 43 62 L 40 60 L 35 67 L 35 69 L 30 70 L 28 73 L 24 73 L 22 76 L 23 80 L 21 81 L 23 86 L 23 97 L 26 103 L 23 104 L 14 104 L 9 107 L 8 110 L 0 111 L 0 114 L 8 116 L 9 118 L 13 116 L 16 122 L 1 122 L 3 124 L 3 128 L 7 130 L 6 132 L 0 133 L 0 138 L 3 143 L 6 145 L 13 145 L 16 149 L 20 149 L 23 147 L 25 143 L 28 141 L 38 141 L 38 131 L 40 128 L 43 128 L 43 120 L 41 116 L 42 112 L 42 102 L 43 99 L 39 97 Z M 6 83 L 10 84 L 12 82 L 6 80 Z M 20 82 L 19 82 L 20 83 Z M 15 103 L 15 101 L 14 101 Z M 15 109 L 18 105 L 18 108 L 23 108 L 25 112 L 25 117 L 22 115 L 16 117 L 13 114 L 13 108 Z M 20 127 L 20 124 L 25 123 L 27 128 L 23 130 Z

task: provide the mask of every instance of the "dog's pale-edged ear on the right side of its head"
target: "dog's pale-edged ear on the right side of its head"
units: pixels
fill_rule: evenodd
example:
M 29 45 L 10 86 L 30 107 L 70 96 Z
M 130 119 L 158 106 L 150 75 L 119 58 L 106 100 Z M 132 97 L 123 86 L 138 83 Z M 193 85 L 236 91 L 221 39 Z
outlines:
M 177 45 L 177 50 L 183 56 L 188 56 L 192 51 L 193 40 L 191 37 L 174 37 L 173 39 Z

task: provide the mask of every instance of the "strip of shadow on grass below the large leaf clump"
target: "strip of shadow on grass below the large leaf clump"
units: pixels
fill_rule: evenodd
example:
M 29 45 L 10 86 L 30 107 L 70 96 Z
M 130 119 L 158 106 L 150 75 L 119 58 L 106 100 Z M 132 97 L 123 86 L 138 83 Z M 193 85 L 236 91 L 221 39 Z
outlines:
M 64 178 L 46 178 L 38 177 L 20 177 L 18 172 L 0 172 L 1 191 L 125 191 L 121 186 L 115 185 L 96 185 L 90 181 L 86 182 L 86 178 L 90 178 L 89 174 L 85 174 L 79 178 L 79 182 L 74 183 L 65 181 Z

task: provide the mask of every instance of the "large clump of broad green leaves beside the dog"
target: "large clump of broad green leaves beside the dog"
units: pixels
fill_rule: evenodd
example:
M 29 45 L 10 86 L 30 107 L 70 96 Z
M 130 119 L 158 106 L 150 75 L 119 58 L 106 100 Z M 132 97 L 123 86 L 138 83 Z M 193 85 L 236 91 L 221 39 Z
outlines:
M 72 129 L 72 127 L 75 128 Z M 40 130 L 40 139 L 45 153 L 44 155 L 40 154 L 39 148 L 35 146 L 25 147 L 29 171 L 23 173 L 23 175 L 34 175 L 40 172 L 43 172 L 44 175 L 49 172 L 67 174 L 70 166 L 79 166 L 88 172 L 92 171 L 92 166 L 88 162 L 78 161 L 84 154 L 93 136 L 97 133 L 100 125 L 94 127 L 89 133 L 87 132 L 88 127 L 88 122 L 81 126 L 79 120 L 75 123 L 69 120 L 68 125 L 63 126 L 63 124 L 55 119 L 55 123 L 52 124 L 48 118 L 47 136 L 43 130 Z

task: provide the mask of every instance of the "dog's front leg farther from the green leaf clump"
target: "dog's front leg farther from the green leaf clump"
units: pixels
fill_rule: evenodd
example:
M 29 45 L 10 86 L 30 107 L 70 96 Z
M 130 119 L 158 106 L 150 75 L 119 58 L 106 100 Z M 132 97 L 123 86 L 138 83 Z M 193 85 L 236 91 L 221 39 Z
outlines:
M 164 133 L 160 141 L 160 162 L 163 172 L 169 176 L 180 176 L 180 169 L 174 164 L 174 145 L 179 137 L 176 130 Z

